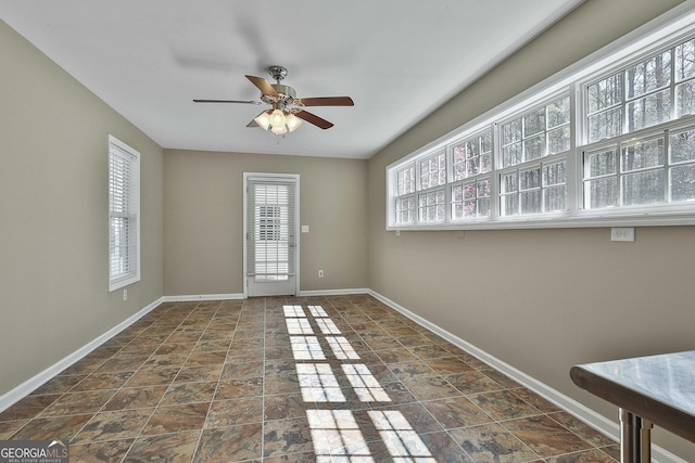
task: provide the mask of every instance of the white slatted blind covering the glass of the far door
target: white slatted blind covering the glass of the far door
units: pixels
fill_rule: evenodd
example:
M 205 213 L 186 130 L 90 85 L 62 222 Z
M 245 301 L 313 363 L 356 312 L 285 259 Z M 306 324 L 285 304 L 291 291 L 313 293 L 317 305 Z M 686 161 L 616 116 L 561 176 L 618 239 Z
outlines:
M 256 281 L 282 281 L 294 274 L 296 183 L 248 180 L 247 274 Z

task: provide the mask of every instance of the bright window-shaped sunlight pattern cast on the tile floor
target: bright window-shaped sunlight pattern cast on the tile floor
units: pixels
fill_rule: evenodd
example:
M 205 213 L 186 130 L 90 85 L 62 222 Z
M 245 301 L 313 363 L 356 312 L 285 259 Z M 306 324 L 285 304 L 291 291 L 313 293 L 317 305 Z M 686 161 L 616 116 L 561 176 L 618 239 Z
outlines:
M 307 306 L 307 308 L 324 336 L 306 335 L 314 333 L 301 306 L 285 306 L 283 310 L 288 331 L 296 334 L 290 336 L 290 344 L 294 360 L 298 361 L 294 366 L 302 399 L 305 402 L 317 403 L 315 409 L 306 410 L 315 461 L 375 463 L 355 415 L 351 410 L 340 410 L 342 408 L 340 403 L 346 402 L 348 399 L 332 366 L 320 362 L 326 360 L 320 337 L 324 337 L 339 360 L 355 360 L 359 359 L 359 356 L 344 336 L 327 336 L 340 334 L 340 330 L 320 306 Z M 304 363 L 303 361 L 306 360 L 319 362 Z M 366 364 L 341 364 L 340 373 L 348 380 L 361 401 L 391 402 L 391 398 Z M 338 410 L 320 410 L 320 403 L 338 403 L 331 407 Z M 437 463 L 425 442 L 401 412 L 367 411 L 367 414 L 390 453 L 390 461 Z M 369 428 L 374 429 L 371 425 Z

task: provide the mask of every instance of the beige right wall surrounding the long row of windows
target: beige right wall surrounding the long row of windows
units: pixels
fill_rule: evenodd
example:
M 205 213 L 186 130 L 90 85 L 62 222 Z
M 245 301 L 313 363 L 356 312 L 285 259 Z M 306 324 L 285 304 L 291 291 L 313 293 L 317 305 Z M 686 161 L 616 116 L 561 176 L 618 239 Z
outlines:
M 695 349 L 695 228 L 386 231 L 384 169 L 678 1 L 587 0 L 369 162 L 369 286 L 617 420 L 574 386 L 576 363 Z M 687 461 L 695 446 L 656 430 Z

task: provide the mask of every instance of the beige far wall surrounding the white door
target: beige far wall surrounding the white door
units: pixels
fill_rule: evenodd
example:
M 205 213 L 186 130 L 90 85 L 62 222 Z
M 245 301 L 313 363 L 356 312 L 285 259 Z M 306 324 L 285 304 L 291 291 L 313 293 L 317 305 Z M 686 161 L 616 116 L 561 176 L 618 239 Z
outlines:
M 300 175 L 301 291 L 367 287 L 366 160 L 165 150 L 164 294 L 243 293 L 243 172 Z

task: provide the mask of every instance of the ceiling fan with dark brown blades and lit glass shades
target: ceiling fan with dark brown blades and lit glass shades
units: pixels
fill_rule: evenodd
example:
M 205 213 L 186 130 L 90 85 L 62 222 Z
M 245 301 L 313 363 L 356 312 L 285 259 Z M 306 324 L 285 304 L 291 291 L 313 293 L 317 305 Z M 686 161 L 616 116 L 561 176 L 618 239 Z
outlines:
M 239 101 L 239 100 L 193 100 L 194 103 L 242 103 L 261 104 L 266 103 L 271 107 L 258 114 L 249 123 L 247 127 L 268 128 L 276 134 L 285 134 L 294 131 L 302 120 L 315 125 L 324 130 L 333 127 L 332 123 L 305 111 L 307 106 L 354 106 L 355 103 L 350 97 L 319 97 L 319 98 L 296 98 L 296 91 L 289 86 L 280 83 L 287 76 L 287 69 L 282 66 L 270 66 L 270 76 L 276 83 L 269 83 L 263 77 L 245 76 L 251 83 L 261 90 L 261 101 Z

